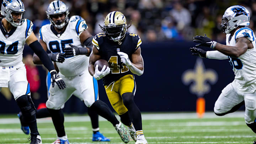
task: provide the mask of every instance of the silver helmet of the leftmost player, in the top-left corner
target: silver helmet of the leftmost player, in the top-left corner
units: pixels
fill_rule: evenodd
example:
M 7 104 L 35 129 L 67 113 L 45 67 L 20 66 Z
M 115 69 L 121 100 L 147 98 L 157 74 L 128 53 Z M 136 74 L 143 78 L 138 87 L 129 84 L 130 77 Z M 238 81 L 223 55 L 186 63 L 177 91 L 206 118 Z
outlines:
M 25 20 L 25 7 L 21 0 L 4 0 L 1 6 L 1 15 L 11 23 L 12 26 L 21 26 Z

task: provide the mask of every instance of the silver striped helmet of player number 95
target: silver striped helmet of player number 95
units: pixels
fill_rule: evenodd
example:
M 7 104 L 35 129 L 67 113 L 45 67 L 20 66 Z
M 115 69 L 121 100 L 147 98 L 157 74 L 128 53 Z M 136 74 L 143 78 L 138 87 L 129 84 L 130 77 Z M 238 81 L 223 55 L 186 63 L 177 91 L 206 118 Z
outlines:
M 50 23 L 57 28 L 63 28 L 69 21 L 69 10 L 68 6 L 64 4 L 64 2 L 60 0 L 54 0 L 51 2 L 46 11 L 47 17 L 50 20 Z M 65 16 L 65 18 L 62 16 Z M 53 20 L 53 18 L 60 17 L 61 20 Z

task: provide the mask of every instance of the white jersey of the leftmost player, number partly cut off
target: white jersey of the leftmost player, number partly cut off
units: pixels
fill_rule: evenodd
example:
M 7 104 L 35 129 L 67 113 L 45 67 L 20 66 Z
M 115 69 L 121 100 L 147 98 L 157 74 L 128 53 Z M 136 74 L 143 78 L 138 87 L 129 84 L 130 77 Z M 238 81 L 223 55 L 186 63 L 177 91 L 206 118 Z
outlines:
M 22 62 L 24 45 L 33 32 L 33 23 L 25 19 L 21 26 L 14 27 L 7 33 L 0 22 L 0 30 L 0 66 L 15 66 Z

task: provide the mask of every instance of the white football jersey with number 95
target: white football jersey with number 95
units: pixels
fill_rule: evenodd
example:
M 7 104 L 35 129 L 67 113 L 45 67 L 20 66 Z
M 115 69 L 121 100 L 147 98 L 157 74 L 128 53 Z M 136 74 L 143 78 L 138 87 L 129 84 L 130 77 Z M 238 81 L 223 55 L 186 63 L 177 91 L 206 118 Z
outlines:
M 59 34 L 51 24 L 44 25 L 39 31 L 39 37 L 46 43 L 48 50 L 52 53 L 63 53 L 65 47 L 70 47 L 69 43 L 77 47 L 82 47 L 80 34 L 88 27 L 85 21 L 69 21 L 66 30 Z M 89 57 L 86 55 L 76 55 L 65 58 L 63 63 L 56 62 L 59 71 L 64 76 L 75 76 L 82 71 L 88 71 Z

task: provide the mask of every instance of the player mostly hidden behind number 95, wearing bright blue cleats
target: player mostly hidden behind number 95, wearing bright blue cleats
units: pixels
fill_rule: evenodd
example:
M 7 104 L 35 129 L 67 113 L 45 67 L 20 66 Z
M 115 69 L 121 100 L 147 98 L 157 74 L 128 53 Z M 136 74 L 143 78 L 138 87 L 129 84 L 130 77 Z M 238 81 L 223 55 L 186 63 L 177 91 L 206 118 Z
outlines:
M 82 20 L 82 21 L 84 21 L 84 18 L 82 18 L 82 17 L 79 16 L 79 15 L 75 15 L 75 16 L 71 16 L 71 17 L 69 18 L 69 20 L 70 20 L 70 21 L 73 21 L 73 20 Z M 85 30 L 85 31 L 87 31 L 87 30 Z M 57 70 L 57 72 L 58 72 L 58 71 L 59 71 L 58 68 L 56 67 L 56 65 L 54 65 L 54 66 L 55 66 L 55 68 L 56 68 L 56 70 Z M 97 81 L 95 81 L 95 82 L 97 82 Z M 47 84 L 48 93 L 49 93 L 49 88 L 50 88 L 50 73 L 48 73 L 48 76 L 47 76 L 47 83 L 46 83 L 46 84 Z M 97 85 L 97 84 L 95 84 L 94 89 L 95 89 L 95 90 L 98 89 L 98 85 Z M 80 94 L 79 94 L 77 91 L 75 91 L 73 95 L 79 96 Z M 49 95 L 48 95 L 48 97 L 49 97 Z M 61 108 L 63 109 L 63 108 L 64 108 L 64 105 L 63 105 Z M 99 132 L 100 128 L 99 128 L 99 125 L 98 125 L 98 114 L 97 114 L 95 111 L 91 110 L 91 108 L 88 108 L 88 114 L 89 114 L 89 116 L 90 116 L 90 118 L 91 118 L 91 124 L 92 124 L 92 131 L 93 131 L 93 134 L 92 134 L 92 141 L 109 142 L 110 139 L 104 137 L 104 135 Z M 20 121 L 21 121 L 21 123 L 22 123 L 22 124 L 21 124 L 21 129 L 22 129 L 22 131 L 23 131 L 25 134 L 29 134 L 29 128 L 28 128 L 28 126 L 26 125 L 26 123 L 23 124 L 23 123 L 24 123 L 24 122 L 23 122 L 24 120 L 23 120 L 22 113 L 20 112 L 20 113 L 18 114 L 18 116 L 19 116 Z M 45 117 L 50 117 L 50 113 L 48 112 L 47 108 L 41 108 L 41 109 L 37 110 L 37 112 L 36 112 L 36 118 L 45 118 Z

